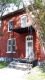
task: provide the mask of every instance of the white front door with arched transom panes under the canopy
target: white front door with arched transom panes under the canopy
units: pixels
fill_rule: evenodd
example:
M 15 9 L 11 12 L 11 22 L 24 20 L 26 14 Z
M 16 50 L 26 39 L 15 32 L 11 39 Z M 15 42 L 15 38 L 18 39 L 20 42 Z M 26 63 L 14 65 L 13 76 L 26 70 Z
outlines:
M 26 36 L 26 58 L 28 57 L 30 58 L 34 57 L 32 35 Z

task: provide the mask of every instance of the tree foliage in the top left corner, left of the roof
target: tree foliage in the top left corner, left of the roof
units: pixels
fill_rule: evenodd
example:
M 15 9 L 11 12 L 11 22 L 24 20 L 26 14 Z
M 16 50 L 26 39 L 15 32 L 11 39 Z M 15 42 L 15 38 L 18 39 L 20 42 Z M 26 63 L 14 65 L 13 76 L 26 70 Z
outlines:
M 0 0 L 0 21 L 1 21 L 1 26 L 2 26 L 2 16 L 3 13 L 5 12 L 6 7 L 8 7 L 9 3 L 15 3 L 17 7 L 19 7 L 19 4 L 22 0 Z M 0 35 L 2 36 L 2 31 L 0 30 Z

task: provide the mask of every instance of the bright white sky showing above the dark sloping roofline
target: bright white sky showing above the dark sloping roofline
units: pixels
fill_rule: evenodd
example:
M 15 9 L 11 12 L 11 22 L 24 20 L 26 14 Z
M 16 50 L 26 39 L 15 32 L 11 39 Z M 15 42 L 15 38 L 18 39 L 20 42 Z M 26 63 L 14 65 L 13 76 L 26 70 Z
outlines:
M 23 3 L 25 6 L 27 6 L 27 5 L 30 5 L 29 1 L 33 1 L 33 0 L 22 0 L 22 1 L 23 2 L 20 2 L 19 9 L 23 8 Z M 6 6 L 7 7 L 5 8 L 3 15 L 6 15 L 6 14 L 9 14 L 11 12 L 18 10 L 18 7 L 14 3 L 6 4 Z M 1 9 L 1 6 L 0 6 L 0 9 Z M 1 12 L 0 12 L 0 16 L 1 16 Z

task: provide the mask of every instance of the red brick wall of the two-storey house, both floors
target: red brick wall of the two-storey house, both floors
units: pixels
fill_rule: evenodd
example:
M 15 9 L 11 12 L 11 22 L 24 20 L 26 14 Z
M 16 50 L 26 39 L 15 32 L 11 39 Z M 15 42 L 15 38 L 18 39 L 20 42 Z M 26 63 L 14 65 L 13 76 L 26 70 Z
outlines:
M 22 15 L 22 14 L 21 14 Z M 1 57 L 16 57 L 16 58 L 24 58 L 26 55 L 26 43 L 25 37 L 28 33 L 25 34 L 18 34 L 14 33 L 14 38 L 16 38 L 16 53 L 13 55 L 7 52 L 7 40 L 13 37 L 12 32 L 8 32 L 8 22 L 9 20 L 13 20 L 13 27 L 17 28 L 20 27 L 20 16 L 15 15 L 13 17 L 9 17 L 3 20 L 2 24 L 2 33 L 3 36 L 0 36 L 0 56 Z M 41 51 L 42 47 L 40 47 L 39 37 L 36 35 L 35 32 L 32 33 L 33 35 L 33 47 L 34 47 L 34 56 L 38 58 L 38 61 L 45 59 L 44 53 Z M 43 57 L 42 57 L 43 56 Z

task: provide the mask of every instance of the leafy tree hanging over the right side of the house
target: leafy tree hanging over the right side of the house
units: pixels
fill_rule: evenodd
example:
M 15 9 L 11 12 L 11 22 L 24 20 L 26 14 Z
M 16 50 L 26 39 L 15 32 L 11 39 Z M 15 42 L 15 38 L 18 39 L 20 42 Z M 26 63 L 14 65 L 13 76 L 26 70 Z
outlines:
M 30 12 L 30 19 L 32 20 L 32 25 L 34 28 L 38 29 L 38 34 L 40 37 L 40 44 L 45 44 L 45 4 L 42 0 L 33 0 L 34 4 L 31 3 L 30 6 L 25 6 L 26 11 Z

